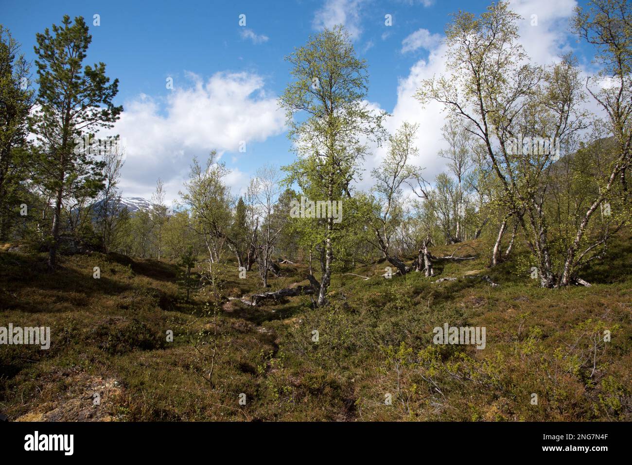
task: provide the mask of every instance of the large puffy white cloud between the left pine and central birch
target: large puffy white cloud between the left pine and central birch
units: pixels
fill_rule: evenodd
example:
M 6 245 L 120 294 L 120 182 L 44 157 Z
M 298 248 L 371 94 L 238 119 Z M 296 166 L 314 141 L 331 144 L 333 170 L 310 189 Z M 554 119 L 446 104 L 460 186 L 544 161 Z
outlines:
M 188 87 L 176 82 L 162 102 L 143 94 L 125 102 L 121 119 L 108 131 L 125 145 L 125 196 L 149 198 L 161 177 L 169 198 L 176 198 L 194 155 L 204 160 L 210 150 L 223 154 L 245 147 L 247 156 L 249 143 L 284 131 L 284 114 L 261 76 L 219 72 L 207 80 L 192 73 L 188 78 Z M 244 176 L 233 172 L 238 190 Z

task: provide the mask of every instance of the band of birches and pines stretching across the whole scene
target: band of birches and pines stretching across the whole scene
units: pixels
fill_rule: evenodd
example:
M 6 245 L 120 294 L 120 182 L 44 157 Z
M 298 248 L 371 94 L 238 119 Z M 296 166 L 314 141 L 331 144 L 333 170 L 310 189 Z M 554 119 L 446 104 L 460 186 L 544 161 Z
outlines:
M 607 256 L 632 213 L 629 6 L 595 0 L 577 9 L 573 30 L 600 66 L 587 79 L 570 54 L 532 64 L 519 20 L 501 2 L 480 16 L 459 12 L 447 25 L 449 75 L 420 83 L 416 94 L 420 111 L 430 100 L 446 109 L 446 149 L 437 154 L 446 169 L 433 183 L 411 162 L 420 128 L 403 123 L 387 133 L 389 115 L 367 102 L 367 63 L 334 27 L 286 57 L 291 79 L 279 104 L 295 162 L 261 167 L 236 196 L 212 152 L 193 160 L 174 212 L 159 181 L 152 207 L 133 214 L 118 190 L 123 150 L 73 150 L 76 137 L 94 138 L 123 110 L 112 104 L 118 81 L 110 83 L 105 65 L 83 66 L 83 18 L 71 24 L 65 16 L 52 35 L 37 35 L 37 93 L 24 85 L 28 64 L 2 29 L 2 238 L 44 246 L 51 268 L 65 237 L 135 257 L 195 257 L 210 271 L 233 257 L 235 272 L 256 269 L 263 286 L 279 259 L 300 261 L 317 305 L 327 303 L 335 270 L 385 259 L 394 273 L 430 276 L 432 247 L 479 237 L 492 266 L 521 243 L 530 256 L 520 266 L 543 287 L 588 284 L 581 270 Z M 586 110 L 590 101 L 600 115 Z M 373 187 L 358 191 L 375 145 L 386 156 L 370 172 Z

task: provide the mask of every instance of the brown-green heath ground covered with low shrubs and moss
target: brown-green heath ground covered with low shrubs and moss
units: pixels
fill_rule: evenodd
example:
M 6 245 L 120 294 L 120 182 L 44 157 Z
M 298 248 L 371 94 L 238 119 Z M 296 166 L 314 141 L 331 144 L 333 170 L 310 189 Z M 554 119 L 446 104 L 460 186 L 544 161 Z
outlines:
M 198 291 L 187 302 L 174 263 L 92 253 L 63 257 L 49 274 L 44 254 L 5 246 L 0 327 L 51 327 L 52 342 L 0 346 L 0 413 L 11 421 L 629 421 L 629 239 L 586 270 L 591 287 L 541 289 L 526 255 L 490 269 L 488 247 L 470 241 L 455 255 L 477 258 L 440 260 L 434 277 L 385 279 L 385 262 L 337 270 L 320 309 L 310 296 L 229 300 L 264 291 L 255 269 L 239 279 L 234 262 L 220 267 L 219 295 Z M 265 291 L 308 284 L 306 272 L 281 265 Z M 446 277 L 457 279 L 437 282 Z M 485 348 L 433 344 L 444 323 L 485 327 Z

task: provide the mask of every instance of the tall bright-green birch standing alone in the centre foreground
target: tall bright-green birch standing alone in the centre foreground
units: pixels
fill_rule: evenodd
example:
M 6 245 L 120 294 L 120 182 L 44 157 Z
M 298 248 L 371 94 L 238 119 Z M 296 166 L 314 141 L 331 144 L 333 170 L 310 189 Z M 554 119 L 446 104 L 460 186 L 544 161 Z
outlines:
M 286 61 L 293 81 L 279 103 L 286 111 L 288 136 L 298 155 L 285 168 L 286 181 L 296 182 L 310 200 L 343 202 L 350 198 L 352 183 L 360 175 L 366 141 L 384 137 L 384 112 L 375 111 L 365 100 L 367 64 L 356 57 L 349 33 L 341 26 L 310 37 Z M 308 279 L 317 289 L 317 305 L 323 306 L 335 250 L 344 243 L 345 223 L 332 217 L 307 220 L 310 231 L 306 233 L 313 238 L 322 271 L 320 282 L 311 274 Z

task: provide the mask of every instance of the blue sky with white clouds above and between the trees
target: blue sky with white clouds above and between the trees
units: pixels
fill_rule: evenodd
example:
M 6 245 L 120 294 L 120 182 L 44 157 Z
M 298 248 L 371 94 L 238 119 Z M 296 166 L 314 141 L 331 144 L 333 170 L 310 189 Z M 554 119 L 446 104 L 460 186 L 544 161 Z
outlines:
M 580 54 L 569 36 L 574 0 L 515 0 L 526 17 L 521 30 L 534 61 L 554 61 L 559 52 Z M 583 3 L 583 2 L 581 2 Z M 7 1 L 0 0 L 0 22 L 34 59 L 35 33 L 59 24 L 64 14 L 83 16 L 90 25 L 88 63 L 103 61 L 118 78 L 118 104 L 125 112 L 116 132 L 125 138 L 126 166 L 121 187 L 126 196 L 149 198 L 155 180 L 166 183 L 169 199 L 178 197 L 191 157 L 204 159 L 212 148 L 233 170 L 228 182 L 242 190 L 255 169 L 269 162 L 288 164 L 295 155 L 276 111 L 276 97 L 288 83 L 284 57 L 322 27 L 343 23 L 353 35 L 358 56 L 367 59 L 368 100 L 401 121 L 420 123 L 418 164 L 430 178 L 444 169 L 441 112 L 412 99 L 416 84 L 441 72 L 441 37 L 449 13 L 482 12 L 479 0 L 285 0 L 285 1 Z M 100 25 L 94 26 L 94 15 Z M 239 25 L 240 15 L 246 25 Z M 385 25 L 385 15 L 392 25 Z M 537 15 L 538 25 L 529 18 Z M 33 72 L 35 70 L 33 69 Z M 173 78 L 173 90 L 166 88 Z M 246 143 L 246 152 L 238 150 Z M 380 151 L 367 160 L 375 166 Z M 358 184 L 370 184 L 368 172 Z

